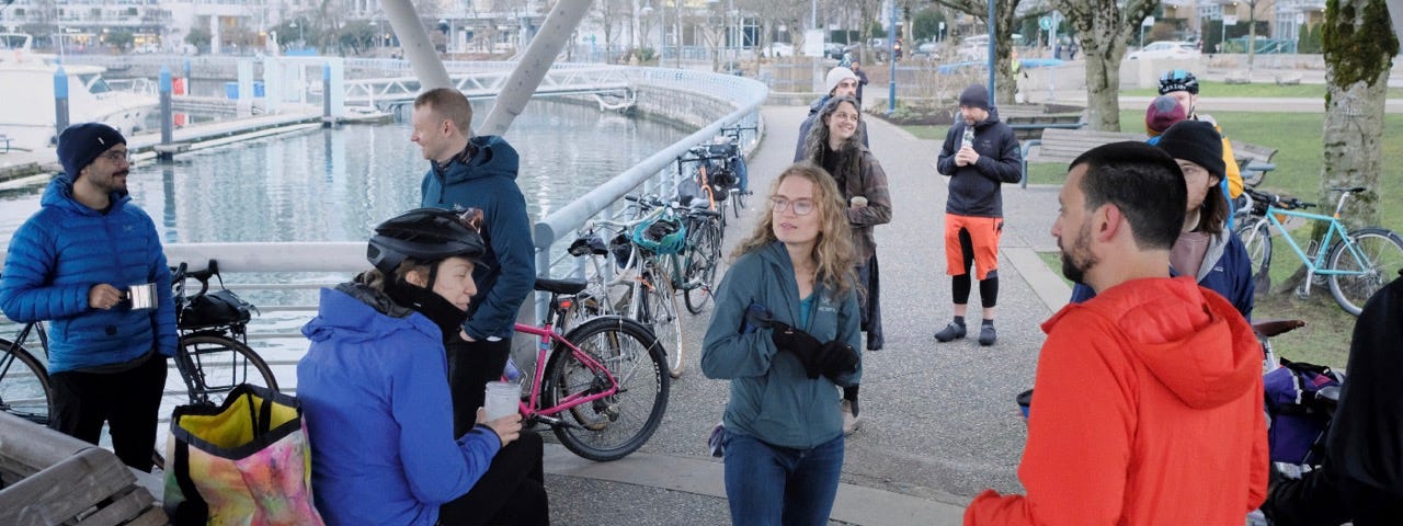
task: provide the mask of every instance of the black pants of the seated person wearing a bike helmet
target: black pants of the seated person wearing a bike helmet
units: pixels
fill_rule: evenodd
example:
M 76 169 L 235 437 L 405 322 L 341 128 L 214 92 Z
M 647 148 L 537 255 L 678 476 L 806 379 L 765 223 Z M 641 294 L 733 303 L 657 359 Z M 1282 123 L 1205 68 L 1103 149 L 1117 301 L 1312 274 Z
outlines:
M 473 490 L 439 508 L 443 526 L 550 525 L 540 435 L 525 432 L 492 457 Z

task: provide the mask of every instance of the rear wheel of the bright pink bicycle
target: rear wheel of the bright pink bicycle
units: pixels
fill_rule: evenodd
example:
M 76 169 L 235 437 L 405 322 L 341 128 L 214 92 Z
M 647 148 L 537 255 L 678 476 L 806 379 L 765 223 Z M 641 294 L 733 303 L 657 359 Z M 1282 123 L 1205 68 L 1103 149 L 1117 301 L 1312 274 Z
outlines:
M 638 450 L 662 424 L 668 410 L 666 363 L 658 339 L 647 327 L 623 317 L 593 318 L 565 337 L 603 365 L 619 390 L 560 414 L 556 438 L 572 453 L 607 461 Z M 547 407 L 563 400 L 605 393 L 609 377 L 589 369 L 564 344 L 556 344 L 546 365 L 542 398 Z

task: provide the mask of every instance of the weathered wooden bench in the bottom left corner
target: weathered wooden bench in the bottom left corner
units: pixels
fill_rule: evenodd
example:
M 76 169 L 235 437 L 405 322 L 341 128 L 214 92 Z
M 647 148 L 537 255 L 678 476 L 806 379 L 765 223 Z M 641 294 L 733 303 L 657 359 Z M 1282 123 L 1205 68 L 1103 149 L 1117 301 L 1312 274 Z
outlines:
M 112 452 L 0 412 L 0 525 L 168 522 Z

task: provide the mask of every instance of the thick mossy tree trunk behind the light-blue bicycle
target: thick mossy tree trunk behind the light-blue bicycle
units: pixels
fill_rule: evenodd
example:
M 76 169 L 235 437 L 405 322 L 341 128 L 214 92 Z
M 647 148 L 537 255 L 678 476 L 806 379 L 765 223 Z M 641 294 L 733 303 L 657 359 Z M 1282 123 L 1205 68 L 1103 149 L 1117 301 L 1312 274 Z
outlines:
M 1383 101 L 1399 38 L 1389 25 L 1385 0 L 1330 0 L 1323 29 L 1326 95 L 1320 202 L 1334 198 L 1329 188 L 1369 188 L 1350 199 L 1344 217 L 1351 229 L 1378 224 Z M 1317 229 L 1322 226 L 1316 223 Z

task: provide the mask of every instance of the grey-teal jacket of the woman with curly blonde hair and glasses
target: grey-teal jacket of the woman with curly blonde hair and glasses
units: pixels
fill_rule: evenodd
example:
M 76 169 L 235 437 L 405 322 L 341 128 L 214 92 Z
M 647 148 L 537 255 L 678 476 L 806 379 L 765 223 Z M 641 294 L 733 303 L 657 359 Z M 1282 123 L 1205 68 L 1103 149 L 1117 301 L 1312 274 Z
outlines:
M 776 321 L 798 327 L 818 341 L 839 339 L 860 349 L 861 316 L 856 290 L 835 297 L 818 285 L 814 295 L 808 327 L 800 327 L 794 265 L 781 243 L 742 255 L 727 271 L 716 292 L 716 311 L 703 341 L 702 372 L 710 379 L 731 380 L 731 403 L 724 418 L 728 431 L 796 449 L 814 447 L 842 435 L 835 383 L 824 376 L 808 379 L 797 356 L 774 348 L 773 330 L 742 334 L 745 310 L 753 302 L 766 306 Z M 857 370 L 838 377 L 838 384 L 856 386 L 861 370 L 859 360 Z

